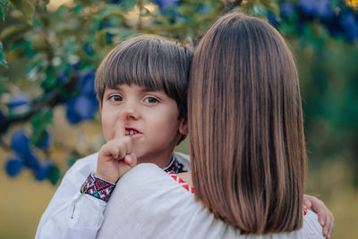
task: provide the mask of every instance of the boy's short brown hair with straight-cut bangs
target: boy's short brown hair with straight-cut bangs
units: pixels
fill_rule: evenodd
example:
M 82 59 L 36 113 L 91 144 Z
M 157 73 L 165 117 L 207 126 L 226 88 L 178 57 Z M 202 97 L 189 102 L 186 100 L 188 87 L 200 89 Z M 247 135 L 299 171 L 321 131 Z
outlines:
M 95 90 L 102 105 L 106 88 L 136 84 L 163 90 L 175 99 L 178 118 L 187 113 L 187 90 L 192 48 L 155 35 L 129 38 L 116 46 L 98 66 Z

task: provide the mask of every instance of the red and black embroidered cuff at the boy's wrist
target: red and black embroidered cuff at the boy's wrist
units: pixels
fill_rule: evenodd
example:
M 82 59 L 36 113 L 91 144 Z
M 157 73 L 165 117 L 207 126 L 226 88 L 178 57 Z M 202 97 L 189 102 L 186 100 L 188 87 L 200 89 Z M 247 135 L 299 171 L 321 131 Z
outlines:
M 82 184 L 80 192 L 90 194 L 103 201 L 108 201 L 114 188 L 115 184 L 108 183 L 105 180 L 95 177 L 91 173 L 86 179 L 86 182 Z

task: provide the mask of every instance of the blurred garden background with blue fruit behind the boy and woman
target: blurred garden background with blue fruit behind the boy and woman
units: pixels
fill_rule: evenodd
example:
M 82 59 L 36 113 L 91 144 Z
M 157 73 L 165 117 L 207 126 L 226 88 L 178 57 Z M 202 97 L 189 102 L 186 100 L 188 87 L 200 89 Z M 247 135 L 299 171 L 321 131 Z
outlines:
M 358 238 L 358 0 L 0 0 L 0 238 L 33 238 L 69 166 L 105 142 L 93 82 L 112 47 L 141 33 L 195 45 L 228 12 L 266 19 L 292 48 L 306 192 L 333 212 L 333 238 Z

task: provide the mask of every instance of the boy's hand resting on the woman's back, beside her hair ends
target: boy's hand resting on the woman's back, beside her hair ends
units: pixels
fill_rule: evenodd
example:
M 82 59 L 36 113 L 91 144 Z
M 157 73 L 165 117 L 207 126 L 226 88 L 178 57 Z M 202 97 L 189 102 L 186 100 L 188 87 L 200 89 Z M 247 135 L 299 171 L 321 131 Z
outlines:
M 323 227 L 323 235 L 326 238 L 330 238 L 335 229 L 335 218 L 332 213 L 326 207 L 323 201 L 310 195 L 303 195 L 303 207 L 306 209 L 312 209 L 319 215 L 320 225 Z

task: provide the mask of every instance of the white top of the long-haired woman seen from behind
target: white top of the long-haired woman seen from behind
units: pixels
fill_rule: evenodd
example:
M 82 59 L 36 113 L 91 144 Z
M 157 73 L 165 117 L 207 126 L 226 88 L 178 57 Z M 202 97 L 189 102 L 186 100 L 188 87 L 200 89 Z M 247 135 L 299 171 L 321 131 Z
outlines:
M 153 164 L 135 166 L 124 175 L 107 203 L 98 238 L 323 238 L 311 210 L 298 231 L 240 235 L 215 218 L 194 194 Z

